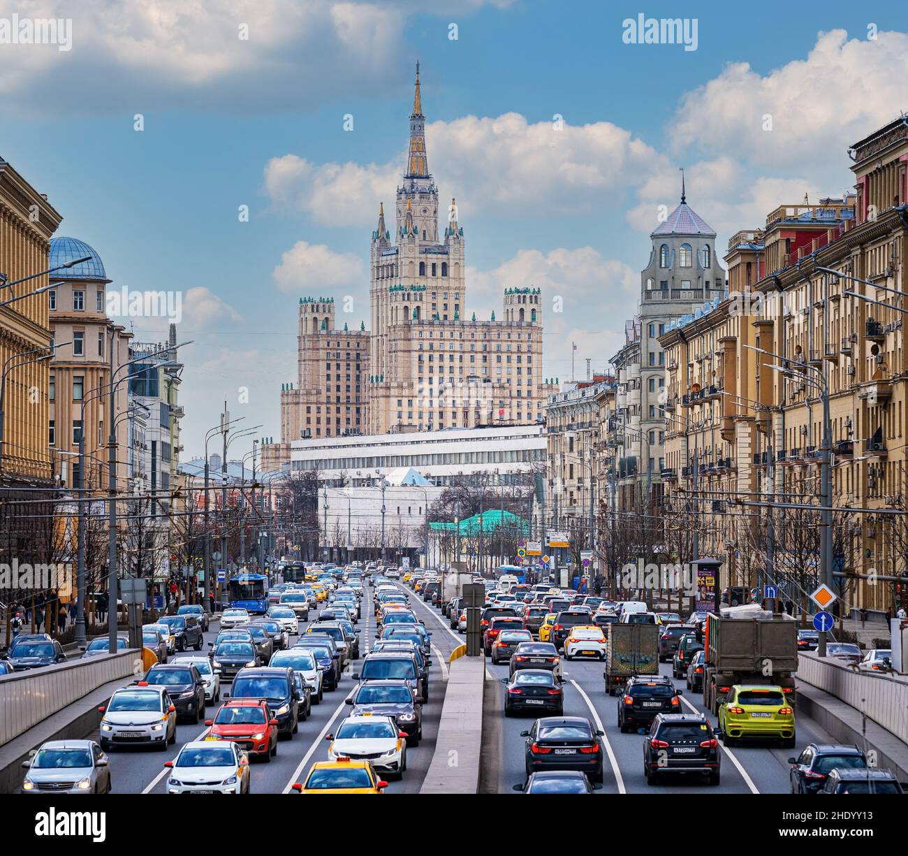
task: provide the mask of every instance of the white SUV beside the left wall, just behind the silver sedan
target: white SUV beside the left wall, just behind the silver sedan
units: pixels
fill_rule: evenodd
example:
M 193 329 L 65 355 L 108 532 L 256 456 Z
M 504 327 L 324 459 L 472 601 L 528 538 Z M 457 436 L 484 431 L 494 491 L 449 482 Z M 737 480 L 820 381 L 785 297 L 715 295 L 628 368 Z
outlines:
M 167 687 L 133 684 L 114 690 L 98 708 L 101 749 L 111 746 L 153 746 L 161 751 L 176 740 L 176 706 Z

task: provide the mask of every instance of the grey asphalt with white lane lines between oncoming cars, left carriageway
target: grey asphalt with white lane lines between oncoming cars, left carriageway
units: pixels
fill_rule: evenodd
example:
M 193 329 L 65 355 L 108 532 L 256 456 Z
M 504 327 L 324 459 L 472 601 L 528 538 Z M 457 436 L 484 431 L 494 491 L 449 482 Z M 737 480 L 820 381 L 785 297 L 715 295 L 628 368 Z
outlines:
M 411 600 L 414 600 L 412 592 L 409 593 Z M 429 612 L 426 607 L 422 607 L 421 611 Z M 314 618 L 314 613 L 312 617 Z M 429 667 L 429 703 L 423 706 L 423 739 L 419 746 L 407 749 L 407 772 L 402 781 L 390 782 L 387 793 L 419 792 L 422 780 L 429 770 L 432 753 L 435 751 L 441 706 L 444 702 L 447 659 L 457 642 L 450 637 L 446 639 L 445 634 L 437 632 L 438 628 L 431 626 L 431 619 L 428 616 L 426 621 L 429 630 L 433 632 L 432 642 L 437 650 L 433 652 L 432 664 Z M 301 625 L 303 632 L 306 626 L 308 625 L 305 623 Z M 371 590 L 367 588 L 362 601 L 362 618 L 356 625 L 357 631 L 360 632 L 360 653 L 364 654 L 374 642 L 375 627 Z M 208 650 L 207 643 L 213 642 L 215 635 L 215 632 L 205 634 L 204 651 Z M 292 637 L 291 642 L 294 640 L 295 637 Z M 174 654 L 170 662 L 191 656 L 192 653 Z M 311 716 L 306 722 L 300 722 L 299 732 L 293 735 L 291 740 L 281 740 L 278 743 L 277 756 L 270 763 L 252 761 L 253 793 L 290 792 L 293 782 L 301 781 L 301 777 L 309 771 L 312 763 L 328 760 L 328 742 L 325 735 L 336 730 L 337 723 L 350 711 L 344 700 L 356 685 L 350 675 L 359 671 L 360 662 L 361 659 L 347 668 L 336 691 L 326 692 L 321 704 L 313 704 Z M 211 719 L 216 709 L 216 705 L 209 705 L 206 718 Z M 164 793 L 166 788 L 164 761 L 173 761 L 183 743 L 197 740 L 206 731 L 207 729 L 199 724 L 180 723 L 177 726 L 176 744 L 167 752 L 150 751 L 141 747 L 114 749 L 109 753 L 114 792 Z M 94 732 L 90 737 L 98 740 L 98 732 Z

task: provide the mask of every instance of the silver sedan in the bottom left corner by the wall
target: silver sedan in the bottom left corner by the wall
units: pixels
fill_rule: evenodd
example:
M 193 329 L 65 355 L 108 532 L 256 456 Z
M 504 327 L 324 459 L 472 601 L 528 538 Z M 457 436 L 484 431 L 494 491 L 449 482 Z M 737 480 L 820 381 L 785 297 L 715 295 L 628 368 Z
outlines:
M 22 766 L 20 793 L 110 793 L 110 761 L 94 740 L 42 743 Z

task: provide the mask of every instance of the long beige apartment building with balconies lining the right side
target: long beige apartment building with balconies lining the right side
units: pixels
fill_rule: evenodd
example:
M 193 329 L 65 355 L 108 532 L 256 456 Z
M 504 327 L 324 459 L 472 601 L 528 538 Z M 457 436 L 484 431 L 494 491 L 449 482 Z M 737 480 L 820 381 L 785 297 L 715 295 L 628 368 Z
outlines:
M 725 558 L 724 584 L 781 579 L 803 598 L 819 515 L 768 503 L 817 503 L 828 387 L 835 579 L 846 611 L 884 612 L 908 564 L 905 516 L 890 513 L 908 508 L 908 126 L 849 154 L 855 194 L 780 205 L 764 228 L 733 235 L 728 299 L 661 338 L 663 481 L 666 514 L 696 526 L 700 555 Z

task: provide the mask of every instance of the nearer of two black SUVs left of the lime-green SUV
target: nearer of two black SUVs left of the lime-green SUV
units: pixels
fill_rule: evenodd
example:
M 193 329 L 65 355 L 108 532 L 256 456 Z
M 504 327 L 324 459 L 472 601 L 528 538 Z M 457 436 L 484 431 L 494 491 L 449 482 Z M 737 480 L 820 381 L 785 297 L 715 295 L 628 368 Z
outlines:
M 700 713 L 658 713 L 643 742 L 646 784 L 666 773 L 696 773 L 717 785 L 719 736 Z

